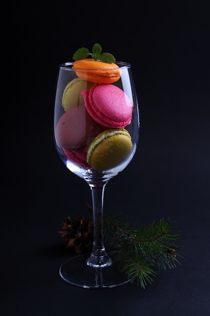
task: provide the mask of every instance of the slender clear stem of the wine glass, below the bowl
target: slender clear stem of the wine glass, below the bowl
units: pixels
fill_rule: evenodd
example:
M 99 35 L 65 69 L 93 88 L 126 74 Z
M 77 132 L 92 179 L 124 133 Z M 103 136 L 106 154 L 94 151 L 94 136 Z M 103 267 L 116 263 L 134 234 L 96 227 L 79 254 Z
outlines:
M 104 247 L 103 235 L 103 199 L 105 185 L 91 185 L 92 200 L 93 200 L 93 221 L 94 221 L 94 241 L 93 250 L 86 261 L 89 267 L 105 268 L 109 267 L 112 262 L 108 257 Z

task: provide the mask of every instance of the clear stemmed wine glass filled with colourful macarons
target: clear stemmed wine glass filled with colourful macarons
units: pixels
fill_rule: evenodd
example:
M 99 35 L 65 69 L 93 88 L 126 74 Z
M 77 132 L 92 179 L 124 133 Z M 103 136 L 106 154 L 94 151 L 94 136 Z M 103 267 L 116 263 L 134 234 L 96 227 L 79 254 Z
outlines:
M 139 135 L 136 91 L 131 65 L 128 63 L 116 62 L 116 68 L 111 69 L 111 73 L 112 75 L 120 73 L 120 77 L 108 84 L 84 80 L 87 69 L 80 69 L 79 72 L 73 69 L 73 65 L 74 63 L 70 62 L 64 63 L 58 70 L 54 102 L 54 143 L 67 169 L 84 179 L 90 186 L 94 241 L 91 253 L 69 258 L 61 265 L 59 274 L 64 281 L 75 286 L 112 288 L 126 284 L 129 280 L 125 274 L 114 269 L 110 255 L 107 254 L 104 246 L 104 190 L 107 182 L 126 168 L 136 151 Z M 94 72 L 97 76 L 104 75 L 104 69 L 97 69 Z M 83 74 L 83 79 L 80 78 L 80 74 Z M 114 100 L 111 112 L 114 112 L 113 109 L 119 102 L 119 93 L 122 97 L 120 106 L 124 104 L 126 111 L 130 112 L 129 122 L 124 119 L 126 111 L 123 109 L 120 110 L 122 118 L 119 118 L 119 114 L 115 118 L 116 126 L 113 126 L 112 122 L 114 121 L 112 116 L 115 115 L 113 113 L 110 114 L 111 119 L 109 113 L 106 113 L 108 117 L 106 120 L 111 123 L 102 122 L 101 118 L 96 118 L 96 115 L 91 113 L 92 110 L 88 111 L 87 107 L 91 89 L 95 89 L 95 92 L 97 89 L 102 89 L 105 104 L 111 95 L 111 99 Z M 113 89 L 116 93 L 106 92 Z M 122 123 L 123 120 L 126 123 Z M 97 154 L 102 157 L 101 161 Z M 95 164 L 94 155 L 97 156 Z M 88 162 L 87 156 L 89 156 Z M 90 156 L 93 156 L 93 161 Z

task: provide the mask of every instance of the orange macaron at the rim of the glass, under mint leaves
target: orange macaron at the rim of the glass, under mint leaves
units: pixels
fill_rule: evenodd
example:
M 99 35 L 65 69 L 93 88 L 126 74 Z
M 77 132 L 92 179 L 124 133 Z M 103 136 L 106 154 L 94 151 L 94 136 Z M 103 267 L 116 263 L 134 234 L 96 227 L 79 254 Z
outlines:
M 95 83 L 113 83 L 119 80 L 121 75 L 116 64 L 103 63 L 91 58 L 74 62 L 72 68 L 75 69 L 79 78 Z

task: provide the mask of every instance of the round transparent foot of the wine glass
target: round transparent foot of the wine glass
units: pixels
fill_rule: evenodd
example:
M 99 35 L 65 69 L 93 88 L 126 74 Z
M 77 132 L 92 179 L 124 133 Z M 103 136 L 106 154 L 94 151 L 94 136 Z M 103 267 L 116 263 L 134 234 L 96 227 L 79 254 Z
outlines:
M 112 266 L 106 268 L 92 268 L 87 266 L 86 260 L 90 254 L 78 255 L 65 261 L 60 269 L 61 278 L 75 286 L 83 288 L 112 288 L 129 283 L 126 275 L 119 273 Z

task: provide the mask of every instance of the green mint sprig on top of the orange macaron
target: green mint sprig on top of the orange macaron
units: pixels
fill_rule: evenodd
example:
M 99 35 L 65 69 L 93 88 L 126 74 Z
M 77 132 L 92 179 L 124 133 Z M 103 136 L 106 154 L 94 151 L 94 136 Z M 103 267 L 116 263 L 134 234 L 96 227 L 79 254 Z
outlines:
M 92 52 L 90 52 L 89 49 L 85 47 L 79 48 L 73 55 L 73 59 L 75 61 L 79 61 L 81 59 L 87 58 L 88 56 L 91 56 L 94 61 L 100 60 L 101 62 L 107 64 L 115 63 L 115 58 L 112 54 L 110 54 L 109 52 L 101 52 L 101 45 L 96 43 L 92 47 Z

